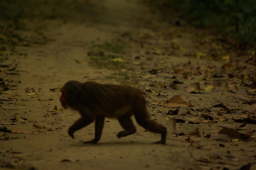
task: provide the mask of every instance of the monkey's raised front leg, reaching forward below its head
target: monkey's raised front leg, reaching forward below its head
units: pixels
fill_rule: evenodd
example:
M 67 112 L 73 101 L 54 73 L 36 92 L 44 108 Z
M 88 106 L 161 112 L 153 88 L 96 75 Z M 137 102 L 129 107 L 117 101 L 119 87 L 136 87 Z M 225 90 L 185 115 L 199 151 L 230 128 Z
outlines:
M 92 123 L 94 117 L 81 117 L 68 129 L 68 135 L 74 139 L 74 132 Z

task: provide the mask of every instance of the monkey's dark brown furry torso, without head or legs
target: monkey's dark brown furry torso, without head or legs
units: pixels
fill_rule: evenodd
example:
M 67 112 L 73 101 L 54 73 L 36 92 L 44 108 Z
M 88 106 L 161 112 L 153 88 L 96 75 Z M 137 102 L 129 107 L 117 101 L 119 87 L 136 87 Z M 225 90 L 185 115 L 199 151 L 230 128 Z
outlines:
M 138 96 L 143 100 L 143 104 L 145 103 L 142 90 L 130 86 L 88 81 L 81 84 L 81 87 L 80 104 L 94 113 L 107 113 L 107 117 L 117 117 L 119 112 L 128 112 Z

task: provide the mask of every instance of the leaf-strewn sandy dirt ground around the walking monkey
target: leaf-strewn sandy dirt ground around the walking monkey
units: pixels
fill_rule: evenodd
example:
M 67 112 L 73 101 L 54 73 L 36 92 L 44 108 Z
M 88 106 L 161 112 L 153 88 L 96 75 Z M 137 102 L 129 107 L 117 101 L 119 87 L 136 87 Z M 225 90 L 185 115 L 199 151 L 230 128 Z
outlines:
M 255 51 L 137 1 L 0 6 L 3 169 L 256 169 Z M 168 127 L 166 145 L 134 118 L 133 135 L 118 139 L 122 127 L 106 119 L 97 144 L 83 144 L 94 138 L 93 123 L 72 139 L 68 127 L 80 116 L 59 102 L 68 80 L 142 89 L 151 119 Z

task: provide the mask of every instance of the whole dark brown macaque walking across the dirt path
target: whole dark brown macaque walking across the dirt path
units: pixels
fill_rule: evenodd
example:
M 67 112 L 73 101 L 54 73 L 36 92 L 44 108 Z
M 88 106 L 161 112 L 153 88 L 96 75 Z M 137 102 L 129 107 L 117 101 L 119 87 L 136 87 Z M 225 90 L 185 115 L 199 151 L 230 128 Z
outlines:
M 144 92 L 137 88 L 96 82 L 69 81 L 61 89 L 60 102 L 64 109 L 70 107 L 77 110 L 81 118 L 68 129 L 74 138 L 74 132 L 89 125 L 95 119 L 95 138 L 84 143 L 97 143 L 102 134 L 105 117 L 116 117 L 124 128 L 117 134 L 118 138 L 136 132 L 131 116 L 148 131 L 161 134 L 156 143 L 166 143 L 167 129 L 160 123 L 150 119 L 146 109 Z

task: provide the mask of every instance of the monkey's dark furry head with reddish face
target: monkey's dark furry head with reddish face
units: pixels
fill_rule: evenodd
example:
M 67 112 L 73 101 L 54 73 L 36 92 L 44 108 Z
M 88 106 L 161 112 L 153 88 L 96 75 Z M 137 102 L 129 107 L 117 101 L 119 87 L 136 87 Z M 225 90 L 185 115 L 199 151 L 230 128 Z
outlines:
M 77 104 L 76 95 L 80 91 L 80 82 L 78 81 L 68 81 L 61 89 L 60 102 L 64 109 L 68 107 L 75 106 Z

